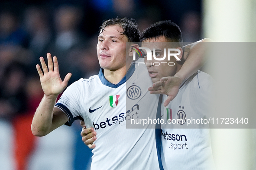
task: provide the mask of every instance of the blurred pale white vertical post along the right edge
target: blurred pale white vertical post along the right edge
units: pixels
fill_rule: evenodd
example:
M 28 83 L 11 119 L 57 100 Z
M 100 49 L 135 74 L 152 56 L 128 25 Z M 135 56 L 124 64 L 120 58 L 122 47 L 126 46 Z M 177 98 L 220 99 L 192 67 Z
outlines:
M 209 57 L 207 72 L 217 84 L 217 115 L 251 116 L 256 104 L 256 1 L 204 0 L 204 36 L 223 43 Z M 237 47 L 240 43 L 240 48 Z M 220 54 L 225 50 L 225 54 Z M 227 114 L 229 113 L 229 114 Z M 255 123 L 255 122 L 253 122 Z M 211 129 L 218 170 L 256 169 L 255 129 Z

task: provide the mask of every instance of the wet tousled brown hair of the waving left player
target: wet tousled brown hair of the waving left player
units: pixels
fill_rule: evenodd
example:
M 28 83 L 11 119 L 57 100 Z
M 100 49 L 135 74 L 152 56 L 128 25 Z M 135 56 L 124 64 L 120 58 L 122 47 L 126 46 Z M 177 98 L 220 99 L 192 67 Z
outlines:
M 105 20 L 100 26 L 100 31 L 103 31 L 107 26 L 110 25 L 119 25 L 121 28 L 123 28 L 123 32 L 120 33 L 121 35 L 126 35 L 128 41 L 139 42 L 139 28 L 134 19 L 129 20 L 127 18 L 112 18 Z

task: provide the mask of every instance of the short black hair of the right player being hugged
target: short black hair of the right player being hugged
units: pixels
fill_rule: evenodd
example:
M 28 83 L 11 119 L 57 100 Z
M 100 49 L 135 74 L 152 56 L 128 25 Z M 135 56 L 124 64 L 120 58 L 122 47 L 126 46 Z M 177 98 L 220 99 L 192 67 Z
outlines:
M 149 25 L 143 33 L 140 35 L 140 41 L 145 41 L 150 38 L 159 38 L 164 36 L 170 42 L 179 42 L 178 46 L 183 46 L 183 39 L 181 30 L 177 24 L 169 20 L 159 21 L 152 25 Z

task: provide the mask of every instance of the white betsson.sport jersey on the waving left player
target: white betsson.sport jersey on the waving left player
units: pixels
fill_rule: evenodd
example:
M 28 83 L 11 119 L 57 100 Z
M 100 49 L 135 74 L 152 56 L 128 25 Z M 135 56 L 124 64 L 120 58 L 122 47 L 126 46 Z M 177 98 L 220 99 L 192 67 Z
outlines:
M 140 60 L 117 85 L 104 78 L 102 69 L 97 76 L 74 82 L 55 105 L 67 114 L 66 125 L 80 119 L 97 132 L 92 170 L 159 169 L 155 129 L 126 128 L 131 119 L 156 117 L 159 96 L 147 90 L 152 81 L 146 66 L 138 66 Z

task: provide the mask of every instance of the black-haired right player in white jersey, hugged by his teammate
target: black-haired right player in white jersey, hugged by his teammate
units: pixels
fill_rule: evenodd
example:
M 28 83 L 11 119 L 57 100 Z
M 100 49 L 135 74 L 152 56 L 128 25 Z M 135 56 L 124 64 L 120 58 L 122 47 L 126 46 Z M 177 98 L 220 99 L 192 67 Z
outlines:
M 162 58 L 163 51 L 167 48 L 182 50 L 183 42 L 178 25 L 170 21 L 156 22 L 146 28 L 141 35 L 141 41 L 143 41 L 143 47 L 148 47 L 152 51 L 155 49 L 157 58 Z M 147 58 L 145 58 L 146 61 Z M 152 59 L 152 62 L 157 62 L 157 60 Z M 167 62 L 167 57 L 162 62 Z M 154 88 L 150 90 L 161 92 L 161 87 L 158 85 L 161 85 L 161 83 L 162 85 L 167 84 L 168 77 L 174 76 L 183 64 L 175 59 L 172 62 L 175 63 L 174 66 L 147 65 L 149 76 L 152 82 L 155 83 Z M 160 81 L 160 79 L 162 80 Z M 193 129 L 186 127 L 186 120 L 200 120 L 208 116 L 213 84 L 214 81 L 210 75 L 198 71 L 180 86 L 178 95 L 170 104 L 164 107 L 164 102 L 162 102 L 162 119 L 165 120 L 165 123 L 168 120 L 169 122 L 175 120 L 171 124 L 164 123 L 161 125 L 161 156 L 165 170 L 210 170 L 214 168 L 208 124 L 194 123 L 190 126 Z M 158 93 L 156 91 L 152 92 Z M 164 93 L 164 91 L 161 93 Z M 166 98 L 168 98 L 167 95 L 164 95 L 163 101 Z

